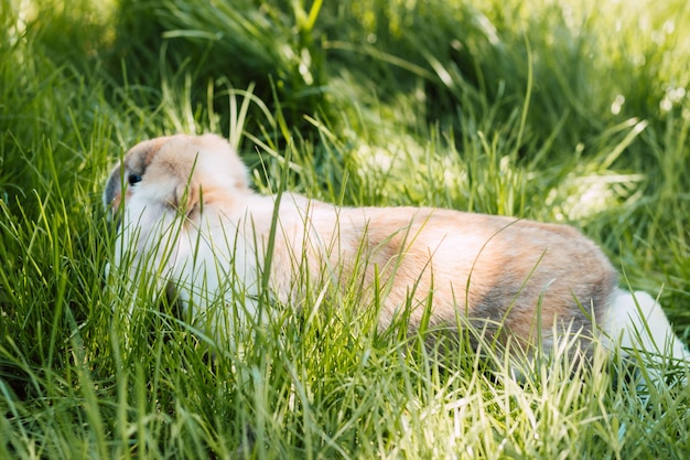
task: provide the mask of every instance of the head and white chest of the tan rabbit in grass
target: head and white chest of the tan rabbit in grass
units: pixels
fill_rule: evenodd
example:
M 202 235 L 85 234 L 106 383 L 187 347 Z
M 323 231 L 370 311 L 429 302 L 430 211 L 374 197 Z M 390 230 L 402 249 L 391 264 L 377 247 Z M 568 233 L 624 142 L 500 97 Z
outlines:
M 103 195 L 118 225 L 106 277 L 122 277 L 131 292 L 142 286 L 142 292 L 164 288 L 186 311 L 198 293 L 197 279 L 212 293 L 223 282 L 214 270 L 218 254 L 200 243 L 205 240 L 200 232 L 207 229 L 203 222 L 216 222 L 209 216 L 244 202 L 252 193 L 248 183 L 246 167 L 218 136 L 175 135 L 138 143 L 112 169 Z

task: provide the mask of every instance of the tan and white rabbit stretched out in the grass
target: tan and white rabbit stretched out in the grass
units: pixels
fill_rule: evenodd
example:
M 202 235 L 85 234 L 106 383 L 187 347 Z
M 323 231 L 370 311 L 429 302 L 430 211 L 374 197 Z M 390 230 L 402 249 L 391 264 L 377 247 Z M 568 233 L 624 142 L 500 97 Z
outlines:
M 193 317 L 214 299 L 235 311 L 241 298 L 237 315 L 212 319 L 218 335 L 231 330 L 228 321 L 260 314 L 266 276 L 273 300 L 298 308 L 306 274 L 343 286 L 355 277 L 362 304 L 378 299 L 380 330 L 405 313 L 410 332 L 474 328 L 526 350 L 579 332 L 690 355 L 659 303 L 619 289 L 612 263 L 571 226 L 261 195 L 229 143 L 212 133 L 138 143 L 112 169 L 104 203 L 118 220 L 112 265 L 174 290 Z

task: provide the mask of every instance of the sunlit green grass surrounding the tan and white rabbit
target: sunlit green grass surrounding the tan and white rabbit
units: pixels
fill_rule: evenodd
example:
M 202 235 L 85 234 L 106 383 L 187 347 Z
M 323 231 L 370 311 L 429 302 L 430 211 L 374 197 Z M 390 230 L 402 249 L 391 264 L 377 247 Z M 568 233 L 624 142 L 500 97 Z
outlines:
M 690 456 L 671 364 L 441 367 L 317 288 L 241 355 L 125 321 L 100 203 L 139 140 L 218 132 L 263 192 L 572 224 L 688 343 L 686 0 L 0 2 L 1 459 Z

